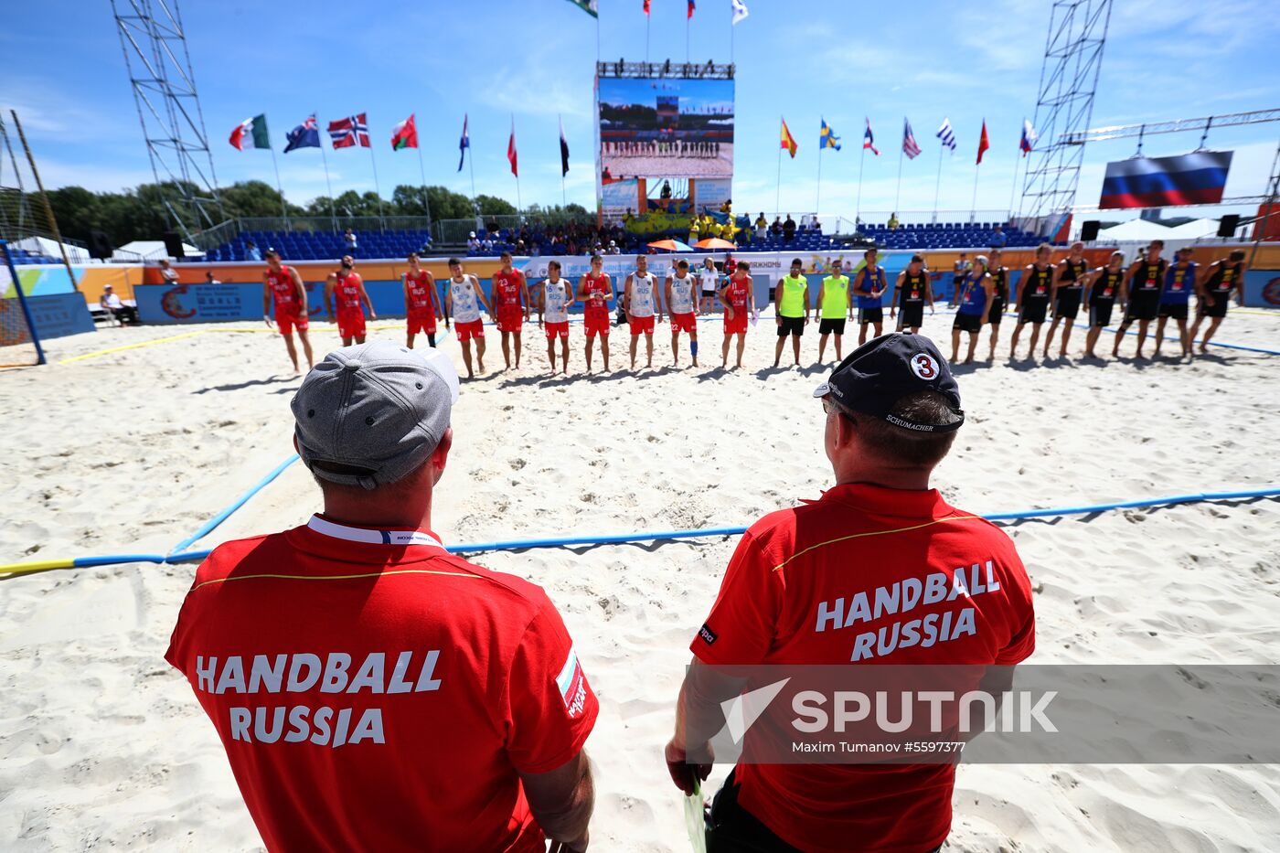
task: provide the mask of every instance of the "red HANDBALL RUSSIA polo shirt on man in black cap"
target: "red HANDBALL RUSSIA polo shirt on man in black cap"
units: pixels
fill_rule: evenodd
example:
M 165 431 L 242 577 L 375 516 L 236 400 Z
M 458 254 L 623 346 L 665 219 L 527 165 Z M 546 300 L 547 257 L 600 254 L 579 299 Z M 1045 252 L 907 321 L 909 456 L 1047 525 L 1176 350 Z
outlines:
M 951 597 L 957 573 L 965 592 Z M 877 607 L 882 587 L 899 592 L 896 612 Z M 751 525 L 691 646 L 713 665 L 1014 665 L 1034 647 L 1007 535 L 937 491 L 864 484 Z M 951 829 L 954 765 L 744 763 L 735 780 L 742 808 L 805 850 L 922 853 Z

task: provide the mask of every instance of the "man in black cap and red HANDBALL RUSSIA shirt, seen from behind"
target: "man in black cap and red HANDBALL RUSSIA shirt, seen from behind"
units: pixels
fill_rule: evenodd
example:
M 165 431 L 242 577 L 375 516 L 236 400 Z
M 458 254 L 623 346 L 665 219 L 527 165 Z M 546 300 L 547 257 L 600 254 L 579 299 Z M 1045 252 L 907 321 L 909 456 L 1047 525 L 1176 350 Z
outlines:
M 686 793 L 710 770 L 690 763 L 708 757 L 708 708 L 740 689 L 712 667 L 1012 667 L 1036 646 L 1030 581 L 1014 543 L 929 488 L 964 423 L 959 388 L 933 342 L 899 333 L 869 341 L 814 396 L 827 412 L 823 443 L 836 484 L 818 501 L 767 515 L 739 542 L 692 642 L 667 744 L 672 779 Z M 910 605 L 904 592 L 901 607 L 883 611 L 856 605 L 908 588 L 957 592 L 911 596 Z M 769 731 L 748 727 L 744 756 Z M 708 849 L 937 850 L 951 830 L 954 785 L 951 763 L 742 762 L 716 795 Z

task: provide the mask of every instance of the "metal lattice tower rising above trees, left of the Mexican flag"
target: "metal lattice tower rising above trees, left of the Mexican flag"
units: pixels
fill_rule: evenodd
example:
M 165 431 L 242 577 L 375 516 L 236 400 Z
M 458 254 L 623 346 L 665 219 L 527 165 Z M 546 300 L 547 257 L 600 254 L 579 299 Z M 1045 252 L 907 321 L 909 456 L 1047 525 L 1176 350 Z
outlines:
M 206 206 L 215 206 L 220 220 L 223 202 L 178 0 L 111 0 L 111 12 L 151 174 L 157 184 L 174 184 L 172 195 L 189 223 L 170 199 L 164 199 L 164 205 L 174 225 L 189 240 L 188 224 L 196 229 L 216 224 Z M 211 199 L 197 196 L 198 188 L 206 190 Z

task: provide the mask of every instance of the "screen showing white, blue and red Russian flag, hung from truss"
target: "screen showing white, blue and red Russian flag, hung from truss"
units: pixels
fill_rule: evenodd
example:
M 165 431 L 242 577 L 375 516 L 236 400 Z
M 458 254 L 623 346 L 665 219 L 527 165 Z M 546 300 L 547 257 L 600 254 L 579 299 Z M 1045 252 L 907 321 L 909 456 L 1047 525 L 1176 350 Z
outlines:
M 1166 207 L 1222 201 L 1231 151 L 1130 158 L 1107 164 L 1098 207 Z

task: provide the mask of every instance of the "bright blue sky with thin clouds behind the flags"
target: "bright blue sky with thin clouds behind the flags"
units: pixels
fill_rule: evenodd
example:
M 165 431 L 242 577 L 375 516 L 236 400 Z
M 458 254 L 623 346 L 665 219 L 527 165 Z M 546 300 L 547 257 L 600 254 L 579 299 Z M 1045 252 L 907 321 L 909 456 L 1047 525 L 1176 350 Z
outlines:
M 1036 106 L 1048 0 L 954 3 L 905 0 L 748 0 L 750 17 L 733 28 L 737 210 L 772 210 L 778 192 L 778 117 L 800 142 L 782 163 L 781 207 L 818 202 L 819 118 L 842 137 L 822 160 L 820 210 L 850 216 L 858 191 L 863 117 L 870 117 L 882 156 L 865 158 L 863 211 L 893 206 L 902 117 L 924 154 L 904 167 L 901 209 L 933 207 L 938 142 L 950 117 L 959 140 L 943 161 L 940 206 L 968 210 L 982 119 L 992 140 L 978 184 L 979 209 L 1005 209 L 1012 188 L 1018 134 Z M 600 0 L 604 59 L 685 59 L 685 0 Z M 526 204 L 561 200 L 558 117 L 571 149 L 567 197 L 591 206 L 593 73 L 596 23 L 566 0 L 353 4 L 333 0 L 187 0 L 183 18 L 201 90 L 214 168 L 223 183 L 274 181 L 266 151 L 228 143 L 242 119 L 266 113 L 278 147 L 283 134 L 317 110 L 321 123 L 369 114 L 384 195 L 417 183 L 413 152 L 393 154 L 390 128 L 417 114 L 429 183 L 470 192 L 458 174 L 457 141 L 470 113 L 475 188 L 516 197 L 507 169 L 515 115 Z M 700 0 L 689 32 L 691 56 L 731 55 L 730 0 Z M 151 179 L 119 40 L 106 0 L 15 4 L 0 49 L 0 105 L 19 111 L 46 184 L 115 190 Z M 1235 113 L 1280 105 L 1280 44 L 1274 0 L 1170 3 L 1116 0 L 1093 124 Z M 8 111 L 5 113 L 8 117 Z M 1224 128 L 1215 149 L 1234 149 L 1228 196 L 1263 191 L 1280 126 Z M 1149 137 L 1144 152 L 1196 147 L 1198 134 Z M 1106 160 L 1135 142 L 1091 145 L 1080 204 L 1094 202 Z M 285 193 L 305 201 L 325 192 L 315 150 L 278 155 Z M 367 150 L 329 151 L 334 188 L 372 188 Z

